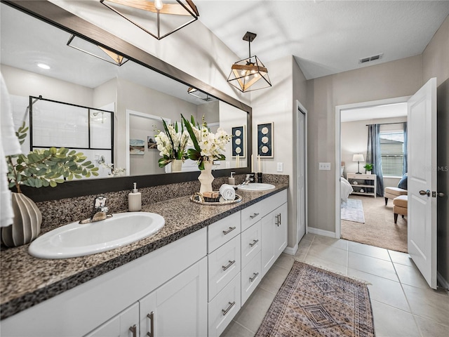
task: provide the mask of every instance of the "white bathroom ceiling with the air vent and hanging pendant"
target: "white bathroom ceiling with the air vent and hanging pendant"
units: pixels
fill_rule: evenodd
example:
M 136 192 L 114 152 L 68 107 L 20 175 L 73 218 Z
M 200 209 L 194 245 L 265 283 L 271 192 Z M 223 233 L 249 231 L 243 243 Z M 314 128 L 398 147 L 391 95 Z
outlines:
M 240 58 L 267 63 L 293 55 L 307 79 L 424 51 L 449 15 L 449 1 L 194 0 L 206 25 Z M 359 58 L 383 53 L 380 60 Z M 236 60 L 237 61 L 237 60 Z

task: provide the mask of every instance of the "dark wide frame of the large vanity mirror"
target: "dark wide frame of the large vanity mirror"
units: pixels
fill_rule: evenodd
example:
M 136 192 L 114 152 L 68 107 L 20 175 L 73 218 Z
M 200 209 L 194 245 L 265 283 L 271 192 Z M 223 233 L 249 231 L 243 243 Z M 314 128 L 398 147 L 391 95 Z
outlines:
M 142 51 L 142 49 L 129 44 L 128 42 L 116 37 L 99 27 L 96 27 L 91 22 L 88 22 L 78 16 L 65 11 L 65 9 L 52 4 L 46 0 L 1 0 L 2 3 L 7 4 L 19 11 L 34 16 L 39 20 L 47 22 L 59 29 L 65 30 L 70 34 L 86 39 L 93 44 L 97 44 L 108 48 L 111 51 L 119 53 L 129 60 L 136 62 L 143 67 L 159 72 L 175 81 L 180 81 L 187 86 L 194 86 L 195 88 L 222 100 L 229 105 L 239 108 L 247 112 L 248 118 L 248 132 L 246 144 L 247 158 L 251 157 L 251 139 L 252 139 L 252 108 L 235 98 L 219 91 L 213 86 L 210 86 L 203 81 L 192 77 L 182 70 L 169 65 L 167 62 L 156 58 L 155 56 Z M 248 163 L 249 164 L 249 163 Z M 248 165 L 249 166 L 249 165 Z M 231 171 L 236 174 L 248 173 L 249 167 L 239 169 L 220 169 L 214 171 L 215 178 L 230 176 Z M 151 187 L 157 185 L 167 185 L 171 183 L 184 183 L 187 181 L 196 180 L 199 176 L 198 171 L 185 173 L 170 173 L 170 174 L 156 174 L 147 176 L 125 176 L 116 178 L 99 178 L 88 180 L 70 180 L 59 184 L 57 187 L 48 188 L 23 188 L 24 194 L 36 202 L 48 201 L 55 199 L 64 199 L 70 197 L 82 197 L 91 194 L 100 194 L 105 192 L 118 192 L 123 190 L 130 190 L 133 183 L 137 183 L 138 187 Z

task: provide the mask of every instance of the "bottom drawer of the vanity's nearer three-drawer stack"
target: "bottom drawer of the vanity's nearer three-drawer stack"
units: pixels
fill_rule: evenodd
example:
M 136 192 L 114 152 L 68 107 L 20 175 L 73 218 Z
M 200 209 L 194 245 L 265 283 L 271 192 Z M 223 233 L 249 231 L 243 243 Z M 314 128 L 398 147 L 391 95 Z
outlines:
M 209 337 L 217 337 L 226 329 L 241 307 L 240 272 L 208 305 Z

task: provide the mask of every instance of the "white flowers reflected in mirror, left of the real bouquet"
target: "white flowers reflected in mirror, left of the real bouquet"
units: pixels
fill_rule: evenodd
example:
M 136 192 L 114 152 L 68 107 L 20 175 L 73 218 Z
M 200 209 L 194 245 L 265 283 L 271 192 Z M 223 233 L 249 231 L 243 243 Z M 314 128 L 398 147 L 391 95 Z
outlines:
M 182 124 L 179 132 L 177 123 L 173 126 L 173 124 L 166 124 L 163 119 L 162 122 L 166 132 L 158 131 L 159 133 L 155 136 L 157 150 L 162 157 L 158 161 L 159 167 L 166 166 L 175 159 L 181 159 L 182 161 L 187 159 L 186 148 L 189 143 L 189 133 L 184 131 Z

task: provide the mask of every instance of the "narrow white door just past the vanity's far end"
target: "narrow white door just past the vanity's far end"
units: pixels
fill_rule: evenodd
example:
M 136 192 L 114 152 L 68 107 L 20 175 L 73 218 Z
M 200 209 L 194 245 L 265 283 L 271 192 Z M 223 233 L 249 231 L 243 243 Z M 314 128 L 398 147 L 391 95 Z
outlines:
M 306 232 L 306 114 L 297 109 L 297 242 Z

